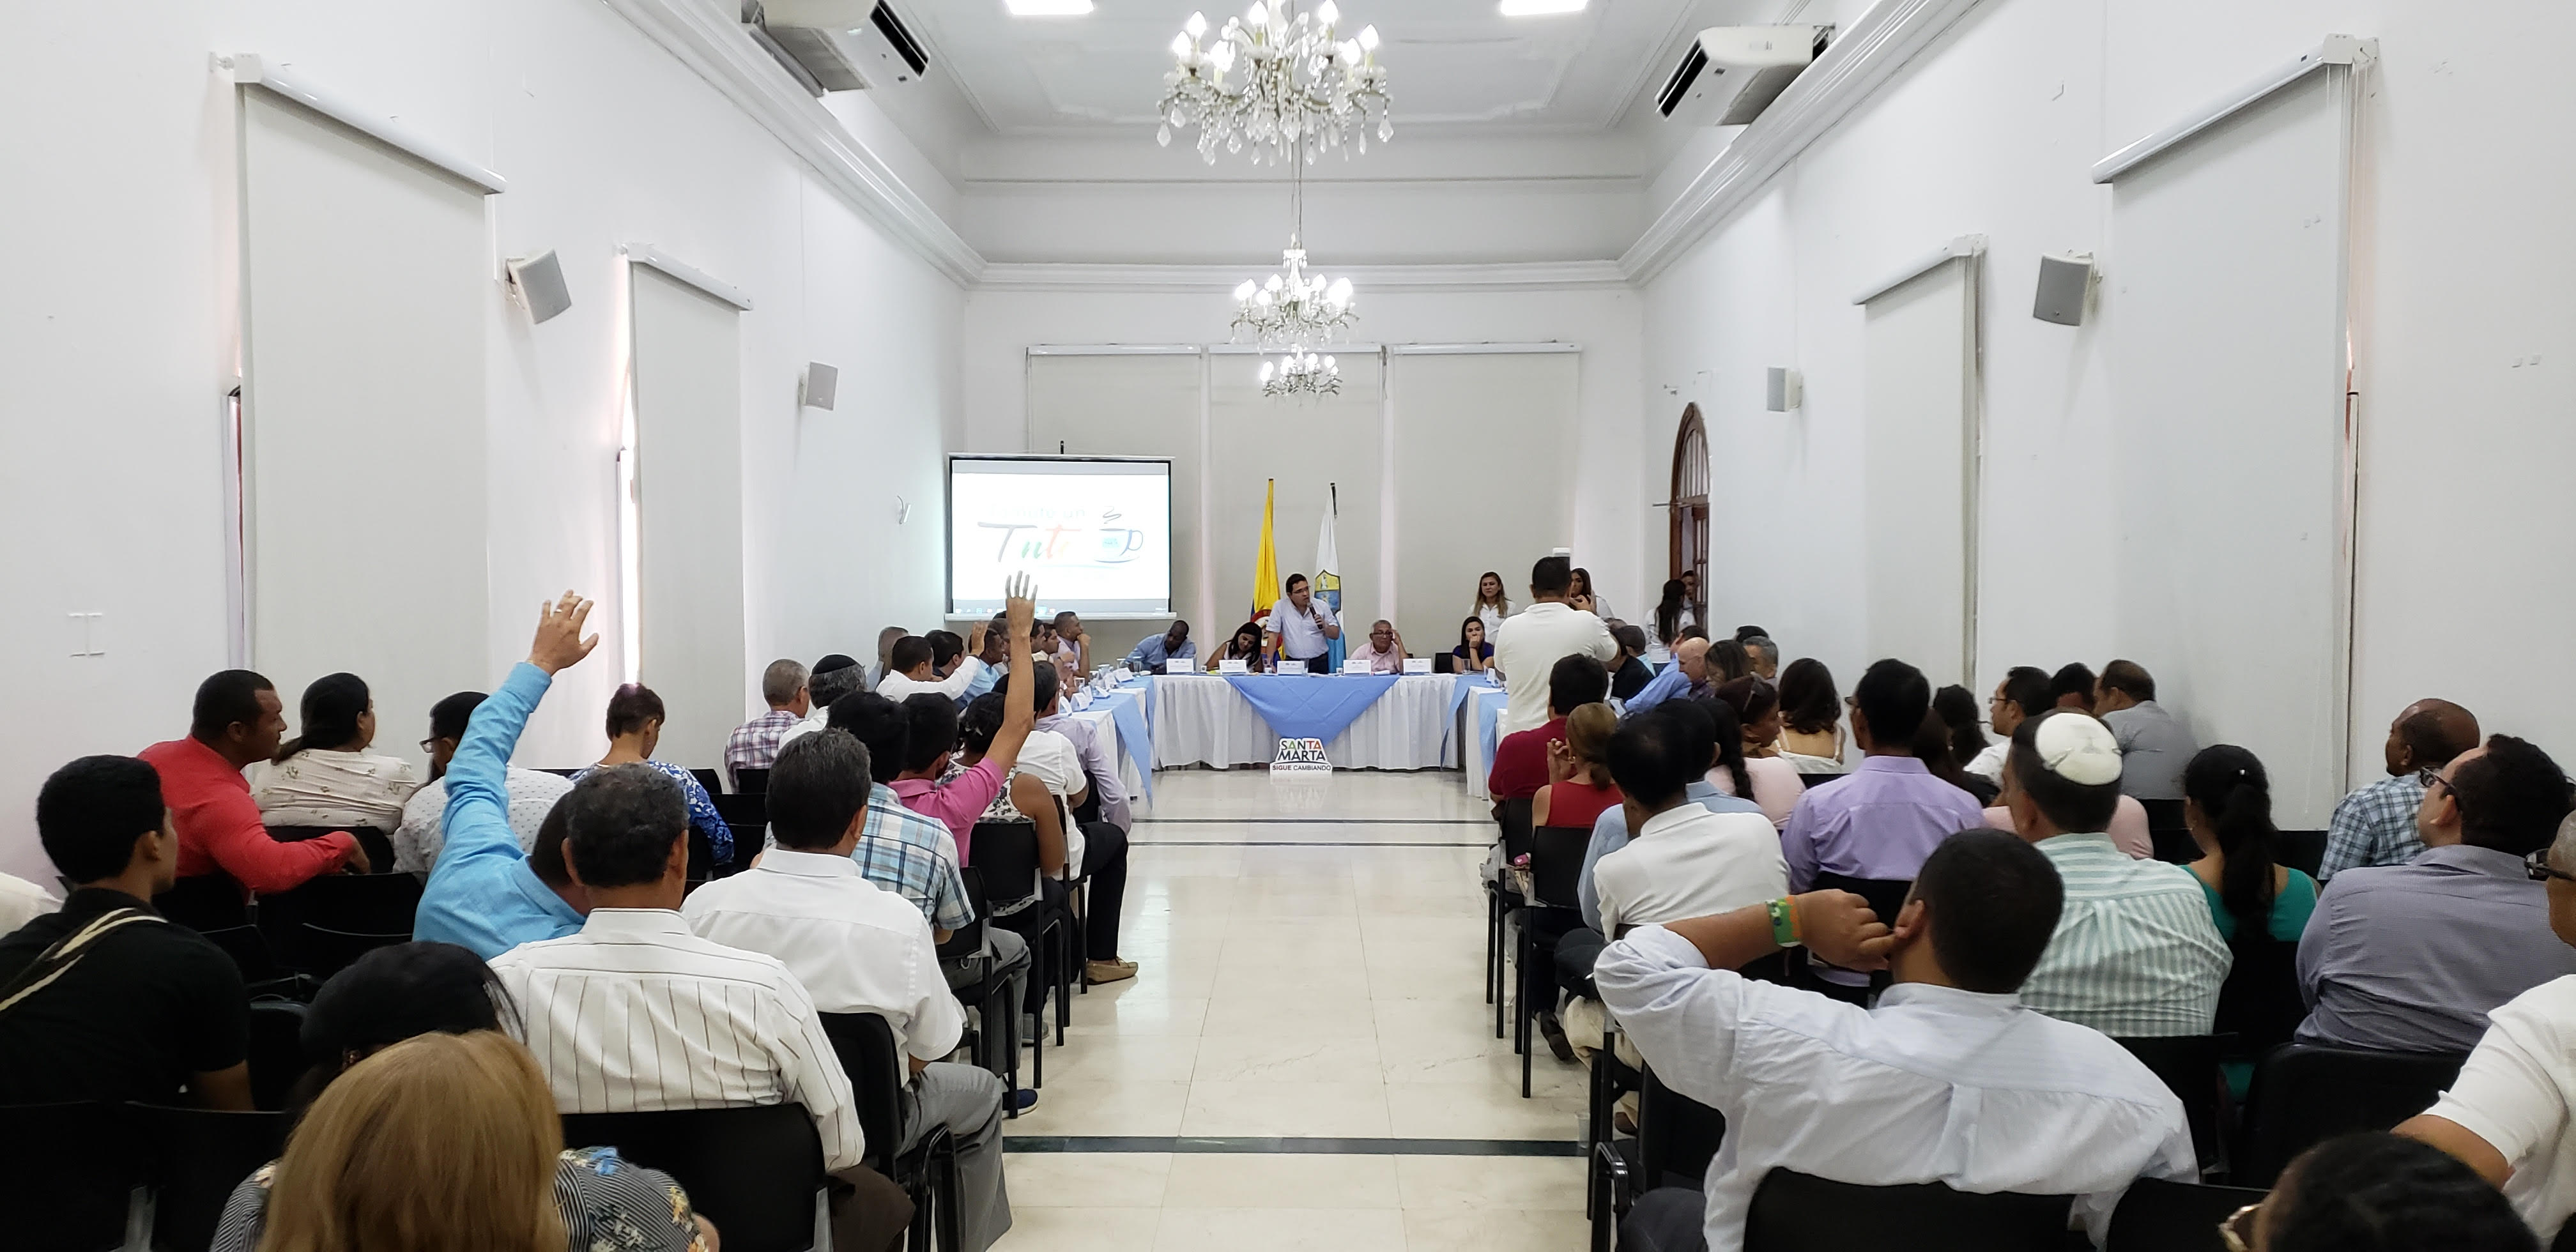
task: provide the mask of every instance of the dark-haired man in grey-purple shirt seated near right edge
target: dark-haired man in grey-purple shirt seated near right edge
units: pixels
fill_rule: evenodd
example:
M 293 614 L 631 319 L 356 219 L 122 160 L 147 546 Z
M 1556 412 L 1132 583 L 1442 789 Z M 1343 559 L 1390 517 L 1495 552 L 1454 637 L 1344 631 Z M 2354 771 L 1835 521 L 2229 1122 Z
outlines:
M 2300 1043 L 2468 1051 L 2486 1015 L 2576 974 L 2550 938 L 2550 891 L 2524 873 L 2568 817 L 2568 778 L 2527 739 L 2494 734 L 2427 770 L 2403 866 L 2336 873 L 2298 940 Z

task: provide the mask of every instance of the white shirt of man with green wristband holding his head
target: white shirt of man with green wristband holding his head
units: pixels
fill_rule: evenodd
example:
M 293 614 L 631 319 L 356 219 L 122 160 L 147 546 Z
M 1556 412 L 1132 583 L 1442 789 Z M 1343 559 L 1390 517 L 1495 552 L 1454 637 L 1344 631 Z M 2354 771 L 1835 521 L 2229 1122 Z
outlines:
M 1726 1113 L 1710 1252 L 1744 1247 L 1772 1170 L 2074 1195 L 2097 1247 L 2133 1180 L 2200 1177 L 2182 1100 L 2146 1064 L 2012 994 L 1904 982 L 1862 1010 L 1708 969 L 1659 925 L 1605 948 L 1592 979 L 1654 1074 Z

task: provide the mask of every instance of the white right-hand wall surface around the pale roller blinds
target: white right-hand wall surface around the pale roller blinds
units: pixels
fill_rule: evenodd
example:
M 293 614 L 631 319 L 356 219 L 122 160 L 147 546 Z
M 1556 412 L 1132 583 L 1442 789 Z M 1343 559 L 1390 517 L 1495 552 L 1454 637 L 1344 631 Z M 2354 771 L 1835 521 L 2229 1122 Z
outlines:
M 1834 5 L 1832 21 L 1860 8 Z M 1978 5 L 1646 289 L 1643 438 L 1669 438 L 1682 399 L 1700 402 L 1716 528 L 1744 541 L 1734 562 L 1723 546 L 1713 559 L 1716 618 L 1772 626 L 1788 654 L 1824 657 L 1844 683 L 1870 659 L 1850 299 L 1978 232 L 1991 240 L 1981 683 L 2007 665 L 2107 659 L 2105 343 L 2120 327 L 2120 252 L 2087 167 L 2329 31 L 2378 36 L 2383 54 L 2365 77 L 2354 188 L 2354 781 L 2378 773 L 2388 716 L 2434 693 L 2576 757 L 2561 698 L 2576 659 L 2555 639 L 2576 608 L 2576 569 L 2558 559 L 2576 505 L 2555 482 L 2576 451 L 2563 420 L 2576 307 L 2561 294 L 2576 242 L 2548 209 L 2576 193 L 2576 173 L 2522 142 L 2576 113 L 2576 85 L 2545 52 L 2576 36 L 2576 10 L 2540 0 L 2473 15 L 2427 0 Z M 2038 255 L 2063 250 L 2102 255 L 2102 317 L 2081 330 L 2027 317 Z M 1762 412 L 1762 366 L 1806 371 L 1803 412 Z M 2151 652 L 2136 659 L 2156 667 Z

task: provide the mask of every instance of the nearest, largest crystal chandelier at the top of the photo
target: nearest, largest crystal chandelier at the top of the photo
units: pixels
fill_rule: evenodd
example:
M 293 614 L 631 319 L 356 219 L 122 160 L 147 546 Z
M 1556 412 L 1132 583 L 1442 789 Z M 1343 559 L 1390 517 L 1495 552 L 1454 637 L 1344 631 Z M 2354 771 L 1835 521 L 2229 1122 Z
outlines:
M 1296 0 L 1255 0 L 1242 18 L 1226 18 L 1213 46 L 1200 46 L 1208 18 L 1190 13 L 1172 36 L 1175 64 L 1162 77 L 1162 126 L 1154 139 L 1170 147 L 1172 129 L 1198 126 L 1198 155 L 1208 165 L 1216 165 L 1218 147 L 1252 147 L 1255 165 L 1311 162 L 1319 149 L 1352 137 L 1368 152 L 1370 108 L 1378 139 L 1391 139 L 1396 129 L 1386 121 L 1378 28 L 1363 26 L 1355 39 L 1334 39 L 1342 13 L 1332 0 L 1314 13 L 1293 10 Z

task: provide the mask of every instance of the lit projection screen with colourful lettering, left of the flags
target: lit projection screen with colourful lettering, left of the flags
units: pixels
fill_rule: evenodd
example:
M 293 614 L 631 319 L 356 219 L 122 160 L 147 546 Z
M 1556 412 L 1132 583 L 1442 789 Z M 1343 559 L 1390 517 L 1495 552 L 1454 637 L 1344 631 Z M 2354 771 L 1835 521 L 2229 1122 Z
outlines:
M 948 613 L 999 613 L 1018 572 L 1048 611 L 1172 613 L 1172 461 L 951 456 Z

